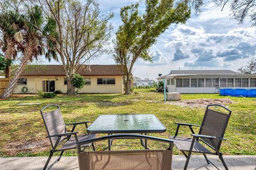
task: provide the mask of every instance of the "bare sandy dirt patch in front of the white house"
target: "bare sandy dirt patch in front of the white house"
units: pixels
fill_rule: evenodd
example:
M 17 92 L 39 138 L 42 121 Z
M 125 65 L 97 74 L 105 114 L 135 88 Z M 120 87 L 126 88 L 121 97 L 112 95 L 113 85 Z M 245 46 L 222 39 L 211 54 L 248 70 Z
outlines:
M 211 104 L 233 104 L 236 103 L 230 99 L 194 99 L 194 100 L 180 100 L 180 101 L 167 101 L 167 104 L 178 105 L 178 106 L 189 106 L 189 107 L 206 107 Z

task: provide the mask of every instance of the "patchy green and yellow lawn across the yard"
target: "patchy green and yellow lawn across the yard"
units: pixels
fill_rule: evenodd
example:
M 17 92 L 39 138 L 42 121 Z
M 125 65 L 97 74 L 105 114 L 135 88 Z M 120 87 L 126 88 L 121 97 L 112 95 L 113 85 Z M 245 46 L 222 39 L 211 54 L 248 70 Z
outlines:
M 46 156 L 50 142 L 46 139 L 46 130 L 39 110 L 47 104 L 60 105 L 66 123 L 94 121 L 101 114 L 155 114 L 166 126 L 165 133 L 150 134 L 167 138 L 175 133 L 174 122 L 201 124 L 205 108 L 180 107 L 165 104 L 163 94 L 153 89 L 135 89 L 137 95 L 91 94 L 66 96 L 58 95 L 52 99 L 33 95 L 14 96 L 9 100 L 0 100 L 0 156 Z M 256 155 L 256 98 L 223 97 L 217 94 L 183 94 L 182 99 L 228 98 L 236 101 L 227 105 L 232 111 L 221 151 L 226 155 Z M 20 105 L 21 103 L 42 103 L 40 105 Z M 84 132 L 84 126 L 77 126 Z M 198 130 L 198 129 L 197 129 Z M 188 128 L 180 128 L 180 135 L 188 136 Z M 124 140 L 114 141 L 115 144 Z M 102 148 L 107 142 L 97 143 Z M 150 148 L 165 147 L 162 143 L 149 142 Z M 119 147 L 120 148 L 120 147 Z M 116 149 L 119 149 L 116 148 Z M 123 147 L 121 147 L 123 148 Z M 129 149 L 139 149 L 132 144 Z M 64 152 L 66 156 L 76 155 L 76 150 Z M 174 154 L 180 154 L 175 149 Z

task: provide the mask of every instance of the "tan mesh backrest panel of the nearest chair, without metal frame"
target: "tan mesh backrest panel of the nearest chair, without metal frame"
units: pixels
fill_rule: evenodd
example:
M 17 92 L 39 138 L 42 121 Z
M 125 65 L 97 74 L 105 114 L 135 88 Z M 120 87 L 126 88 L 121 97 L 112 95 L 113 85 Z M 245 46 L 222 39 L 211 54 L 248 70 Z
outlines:
M 83 151 L 78 153 L 80 170 L 162 169 L 171 170 L 171 150 Z

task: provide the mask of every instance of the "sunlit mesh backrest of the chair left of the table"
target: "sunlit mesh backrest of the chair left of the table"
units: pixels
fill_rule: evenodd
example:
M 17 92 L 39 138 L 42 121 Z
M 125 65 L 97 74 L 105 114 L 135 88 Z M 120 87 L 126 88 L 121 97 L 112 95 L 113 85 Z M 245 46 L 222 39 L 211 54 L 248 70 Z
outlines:
M 57 109 L 44 113 L 44 109 L 47 107 L 54 106 L 57 107 Z M 62 118 L 62 115 L 60 113 L 60 107 L 58 105 L 47 105 L 45 106 L 41 111 L 41 115 L 44 120 L 44 125 L 47 131 L 48 135 L 54 135 L 54 134 L 60 134 L 60 133 L 66 133 L 66 124 L 64 123 L 64 120 Z M 60 140 L 62 140 L 65 137 L 62 137 Z M 58 137 L 51 137 L 49 138 L 51 141 L 52 147 L 54 147 Z

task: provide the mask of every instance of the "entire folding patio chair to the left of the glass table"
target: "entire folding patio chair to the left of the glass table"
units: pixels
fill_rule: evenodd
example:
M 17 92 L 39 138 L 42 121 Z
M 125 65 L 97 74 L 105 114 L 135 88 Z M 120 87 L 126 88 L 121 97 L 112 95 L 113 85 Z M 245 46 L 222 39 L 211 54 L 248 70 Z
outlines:
M 44 113 L 43 111 L 50 106 L 57 107 L 57 109 Z M 60 113 L 60 107 L 58 105 L 47 105 L 40 112 L 43 117 L 44 125 L 48 134 L 46 138 L 50 139 L 52 146 L 50 156 L 47 159 L 43 170 L 47 168 L 47 165 L 49 164 L 54 152 L 60 151 L 60 156 L 48 169 L 50 169 L 55 163 L 59 162 L 65 150 L 75 149 L 77 141 L 95 138 L 95 134 L 77 135 L 78 132 L 74 132 L 76 125 L 85 124 L 85 127 L 87 129 L 87 123 L 89 122 L 65 124 Z M 71 132 L 67 131 L 66 126 L 68 125 L 73 125 Z M 83 145 L 83 147 L 88 147 L 90 145 L 92 145 L 93 150 L 95 150 L 93 143 L 86 143 L 86 145 Z

